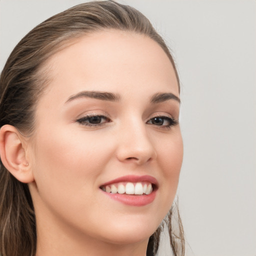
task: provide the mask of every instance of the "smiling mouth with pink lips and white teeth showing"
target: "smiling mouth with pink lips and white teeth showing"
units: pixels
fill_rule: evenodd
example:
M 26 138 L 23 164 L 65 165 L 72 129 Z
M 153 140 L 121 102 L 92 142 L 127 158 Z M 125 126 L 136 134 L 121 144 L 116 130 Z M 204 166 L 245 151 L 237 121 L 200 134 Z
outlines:
M 114 200 L 128 205 L 143 206 L 154 200 L 158 183 L 149 175 L 127 175 L 108 181 L 99 188 Z

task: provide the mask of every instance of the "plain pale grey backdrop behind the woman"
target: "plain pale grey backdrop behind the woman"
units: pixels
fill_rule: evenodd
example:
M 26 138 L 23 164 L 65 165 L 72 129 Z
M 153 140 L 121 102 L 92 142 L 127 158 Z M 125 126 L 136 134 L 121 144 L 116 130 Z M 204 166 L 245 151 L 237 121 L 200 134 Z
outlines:
M 0 0 L 0 69 L 36 24 L 83 0 Z M 256 1 L 121 0 L 172 49 L 181 80 L 178 187 L 187 255 L 256 255 Z M 165 255 L 162 247 L 159 255 Z

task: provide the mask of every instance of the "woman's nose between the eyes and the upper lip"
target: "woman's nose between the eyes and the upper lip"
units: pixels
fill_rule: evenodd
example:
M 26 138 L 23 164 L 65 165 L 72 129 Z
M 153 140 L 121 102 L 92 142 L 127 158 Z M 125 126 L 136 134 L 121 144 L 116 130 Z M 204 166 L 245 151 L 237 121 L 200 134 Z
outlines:
M 146 124 L 141 120 L 120 129 L 118 136 L 117 158 L 122 162 L 138 165 L 156 158 L 153 142 L 146 132 Z

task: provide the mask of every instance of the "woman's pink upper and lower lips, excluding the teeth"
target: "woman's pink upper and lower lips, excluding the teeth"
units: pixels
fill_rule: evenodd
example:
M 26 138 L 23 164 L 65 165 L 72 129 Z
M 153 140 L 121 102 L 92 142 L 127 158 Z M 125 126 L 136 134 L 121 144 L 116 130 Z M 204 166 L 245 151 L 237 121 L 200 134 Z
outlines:
M 150 194 L 143 194 L 143 195 L 134 195 L 134 194 L 112 194 L 107 193 L 100 189 L 102 193 L 104 193 L 106 196 L 110 197 L 113 200 L 119 201 L 126 205 L 131 206 L 144 206 L 149 203 L 151 203 L 156 195 L 158 182 L 156 178 L 150 176 L 150 175 L 143 175 L 143 176 L 136 176 L 136 175 L 126 175 L 122 177 L 118 177 L 116 179 L 112 179 L 110 181 L 107 181 L 106 183 L 101 184 L 100 186 L 105 186 L 111 183 L 117 183 L 117 182 L 141 182 L 141 181 L 148 181 L 153 185 L 153 191 Z

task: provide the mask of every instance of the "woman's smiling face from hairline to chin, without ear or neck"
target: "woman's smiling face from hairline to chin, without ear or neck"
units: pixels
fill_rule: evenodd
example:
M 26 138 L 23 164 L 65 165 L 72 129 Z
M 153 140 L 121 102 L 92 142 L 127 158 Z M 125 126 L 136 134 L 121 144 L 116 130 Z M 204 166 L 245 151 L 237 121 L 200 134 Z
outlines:
M 116 244 L 147 239 L 172 204 L 182 161 L 170 60 L 150 38 L 104 31 L 45 65 L 51 79 L 29 145 L 37 221 Z

